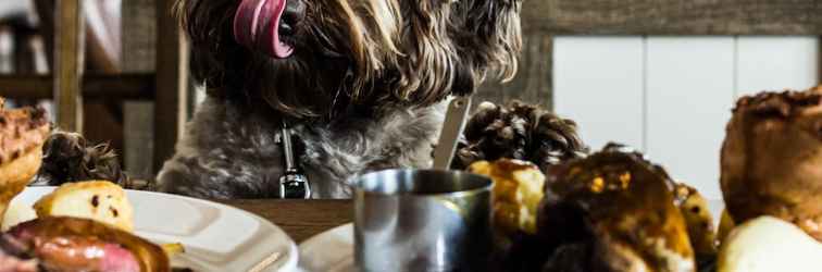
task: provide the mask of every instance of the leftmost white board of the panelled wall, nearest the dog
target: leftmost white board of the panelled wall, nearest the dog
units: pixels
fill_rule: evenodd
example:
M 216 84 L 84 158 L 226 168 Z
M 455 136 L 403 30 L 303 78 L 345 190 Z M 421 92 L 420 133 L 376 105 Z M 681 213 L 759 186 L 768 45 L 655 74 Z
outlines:
M 560 37 L 556 112 L 576 121 L 594 149 L 618 141 L 643 149 L 643 38 Z

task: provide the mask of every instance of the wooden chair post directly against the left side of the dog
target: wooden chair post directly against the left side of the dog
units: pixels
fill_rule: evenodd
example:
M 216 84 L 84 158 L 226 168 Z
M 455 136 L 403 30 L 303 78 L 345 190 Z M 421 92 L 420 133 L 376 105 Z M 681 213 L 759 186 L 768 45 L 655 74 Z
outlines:
M 188 120 L 188 45 L 171 11 L 174 0 L 157 0 L 157 94 L 154 172 L 174 154 Z

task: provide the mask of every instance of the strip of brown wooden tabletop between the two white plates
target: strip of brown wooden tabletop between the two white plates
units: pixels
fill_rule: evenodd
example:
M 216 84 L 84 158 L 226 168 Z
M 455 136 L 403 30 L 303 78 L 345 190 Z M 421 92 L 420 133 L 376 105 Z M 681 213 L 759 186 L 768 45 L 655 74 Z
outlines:
M 339 225 L 352 222 L 351 200 L 229 200 L 222 201 L 267 219 L 298 244 Z

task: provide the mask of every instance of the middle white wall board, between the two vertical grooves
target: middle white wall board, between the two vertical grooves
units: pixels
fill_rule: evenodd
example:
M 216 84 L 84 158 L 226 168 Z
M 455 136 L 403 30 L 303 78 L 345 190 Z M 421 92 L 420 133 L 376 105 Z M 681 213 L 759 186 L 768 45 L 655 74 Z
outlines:
M 734 97 L 734 38 L 648 38 L 648 157 L 720 197 L 719 154 Z

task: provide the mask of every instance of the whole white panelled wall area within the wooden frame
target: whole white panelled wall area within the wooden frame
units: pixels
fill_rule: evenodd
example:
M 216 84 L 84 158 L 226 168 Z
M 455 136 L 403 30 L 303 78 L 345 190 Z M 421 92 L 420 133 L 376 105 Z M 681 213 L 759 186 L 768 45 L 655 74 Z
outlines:
M 555 108 L 594 149 L 631 145 L 719 199 L 724 125 L 742 95 L 818 84 L 815 37 L 557 37 Z

